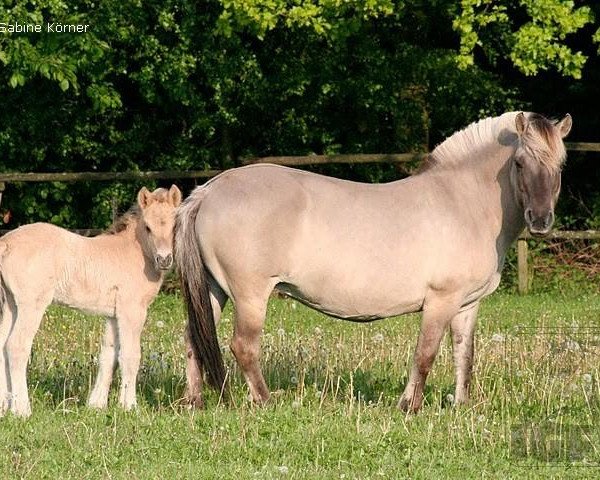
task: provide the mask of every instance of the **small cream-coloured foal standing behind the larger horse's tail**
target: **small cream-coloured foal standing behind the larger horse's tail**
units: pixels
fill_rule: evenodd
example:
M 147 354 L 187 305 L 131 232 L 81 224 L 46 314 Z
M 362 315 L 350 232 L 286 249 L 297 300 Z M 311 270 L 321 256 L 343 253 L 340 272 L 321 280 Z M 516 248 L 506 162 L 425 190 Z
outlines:
M 121 369 L 119 403 L 136 405 L 140 335 L 148 306 L 173 263 L 173 185 L 142 188 L 137 204 L 105 233 L 86 238 L 47 223 L 17 228 L 0 239 L 0 413 L 31 414 L 27 362 L 51 303 L 108 317 L 99 370 L 88 404 L 103 408 L 114 368 Z

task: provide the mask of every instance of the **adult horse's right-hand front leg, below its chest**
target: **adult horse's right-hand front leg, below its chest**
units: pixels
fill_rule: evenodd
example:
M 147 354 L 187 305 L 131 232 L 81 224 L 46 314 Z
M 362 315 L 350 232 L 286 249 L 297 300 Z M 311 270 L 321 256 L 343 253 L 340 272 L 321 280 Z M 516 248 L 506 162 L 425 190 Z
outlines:
M 452 332 L 452 355 L 456 374 L 454 403 L 460 405 L 469 400 L 469 388 L 473 373 L 473 339 L 479 302 L 468 310 L 458 313 L 450 321 Z

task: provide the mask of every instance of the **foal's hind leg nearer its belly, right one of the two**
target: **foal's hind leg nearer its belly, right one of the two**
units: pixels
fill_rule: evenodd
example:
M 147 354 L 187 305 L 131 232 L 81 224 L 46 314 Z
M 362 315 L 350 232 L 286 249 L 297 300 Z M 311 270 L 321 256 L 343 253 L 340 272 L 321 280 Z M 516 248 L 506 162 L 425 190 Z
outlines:
M 31 355 L 33 338 L 51 300 L 50 297 L 47 301 L 38 299 L 31 303 L 16 304 L 17 315 L 6 341 L 5 353 L 11 384 L 10 410 L 18 416 L 28 417 L 31 415 L 31 404 L 27 394 L 27 363 Z

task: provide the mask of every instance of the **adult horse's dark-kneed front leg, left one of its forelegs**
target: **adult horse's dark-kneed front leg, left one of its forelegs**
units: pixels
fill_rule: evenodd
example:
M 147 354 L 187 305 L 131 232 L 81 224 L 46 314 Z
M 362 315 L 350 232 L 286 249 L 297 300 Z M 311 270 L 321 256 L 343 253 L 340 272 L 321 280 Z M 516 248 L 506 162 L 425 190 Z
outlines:
M 458 309 L 458 301 L 453 297 L 436 296 L 426 300 L 408 383 L 398 403 L 401 410 L 416 412 L 421 408 L 427 375 L 431 371 L 446 327 Z

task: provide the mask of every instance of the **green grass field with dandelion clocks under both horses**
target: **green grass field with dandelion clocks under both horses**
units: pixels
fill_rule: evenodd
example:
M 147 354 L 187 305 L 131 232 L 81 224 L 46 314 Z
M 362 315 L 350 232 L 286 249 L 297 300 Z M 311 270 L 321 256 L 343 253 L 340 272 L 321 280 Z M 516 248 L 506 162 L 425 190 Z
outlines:
M 226 348 L 232 405 L 190 412 L 181 300 L 143 336 L 135 412 L 85 407 L 102 320 L 52 308 L 29 369 L 33 416 L 0 419 L 2 478 L 590 478 L 600 474 L 600 295 L 496 293 L 479 316 L 472 403 L 452 408 L 448 339 L 417 415 L 396 410 L 416 315 L 358 325 L 273 299 L 255 408 Z

